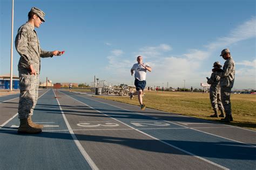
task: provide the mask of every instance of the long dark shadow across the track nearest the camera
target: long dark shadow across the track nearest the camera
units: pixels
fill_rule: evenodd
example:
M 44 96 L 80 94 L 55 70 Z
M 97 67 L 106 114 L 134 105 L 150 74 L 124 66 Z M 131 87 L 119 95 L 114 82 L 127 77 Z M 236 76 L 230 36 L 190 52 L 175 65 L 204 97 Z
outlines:
M 54 138 L 63 140 L 73 140 L 71 134 L 65 132 L 42 132 L 40 134 L 18 134 L 14 131 L 0 130 L 1 133 L 9 133 L 14 136 L 33 136 L 39 138 Z M 163 145 L 154 139 L 131 139 L 110 136 L 95 136 L 87 134 L 75 134 L 79 141 L 93 141 L 97 143 L 108 143 L 114 145 L 123 145 L 149 152 L 184 154 L 187 153 L 176 150 L 173 147 Z M 1 139 L 1 138 L 0 138 Z M 192 152 L 200 157 L 220 158 L 220 159 L 236 159 L 236 160 L 256 160 L 256 148 L 232 141 L 228 142 L 204 142 L 204 141 L 180 141 L 180 140 L 163 140 L 168 144 L 182 148 L 188 152 Z M 207 151 L 205 150 L 207 148 Z M 226 152 L 224 152 L 226 151 Z

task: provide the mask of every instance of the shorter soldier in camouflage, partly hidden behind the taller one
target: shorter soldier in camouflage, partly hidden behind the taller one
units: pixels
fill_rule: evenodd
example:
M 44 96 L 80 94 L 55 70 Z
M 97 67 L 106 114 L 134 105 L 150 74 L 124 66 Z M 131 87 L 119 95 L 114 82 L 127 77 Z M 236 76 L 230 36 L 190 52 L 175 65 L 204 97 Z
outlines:
M 220 65 L 219 61 L 216 61 L 213 63 L 213 68 L 221 68 L 222 66 Z M 218 76 L 215 73 L 211 74 L 211 77 L 207 79 L 207 83 L 211 84 L 210 87 L 210 100 L 212 104 L 212 108 L 214 110 L 214 115 L 211 115 L 211 117 L 224 117 L 224 108 L 221 103 L 220 99 L 220 76 Z M 218 108 L 221 112 L 221 114 L 218 116 Z

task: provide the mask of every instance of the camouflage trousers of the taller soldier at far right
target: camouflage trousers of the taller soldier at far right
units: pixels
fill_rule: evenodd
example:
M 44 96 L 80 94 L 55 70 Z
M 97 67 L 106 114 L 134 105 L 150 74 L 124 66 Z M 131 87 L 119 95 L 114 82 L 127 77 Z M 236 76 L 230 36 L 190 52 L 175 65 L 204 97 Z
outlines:
M 220 87 L 221 102 L 223 104 L 226 115 L 232 114 L 230 96 L 231 96 L 230 87 Z

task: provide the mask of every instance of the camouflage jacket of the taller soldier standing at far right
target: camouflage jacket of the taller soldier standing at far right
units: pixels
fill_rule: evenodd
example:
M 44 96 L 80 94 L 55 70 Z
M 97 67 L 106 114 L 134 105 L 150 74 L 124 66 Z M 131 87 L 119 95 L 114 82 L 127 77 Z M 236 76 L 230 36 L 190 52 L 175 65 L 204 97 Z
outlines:
M 235 63 L 232 57 L 226 60 L 223 66 L 222 72 L 215 72 L 220 76 L 220 87 L 234 86 L 234 75 L 235 75 Z

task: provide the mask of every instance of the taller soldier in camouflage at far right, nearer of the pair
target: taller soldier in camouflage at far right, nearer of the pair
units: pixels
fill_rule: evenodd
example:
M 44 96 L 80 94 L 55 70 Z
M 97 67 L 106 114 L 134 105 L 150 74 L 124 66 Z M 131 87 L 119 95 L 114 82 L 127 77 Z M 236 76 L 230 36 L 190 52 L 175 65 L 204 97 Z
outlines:
M 230 55 L 230 50 L 227 48 L 221 51 L 220 56 L 222 56 L 223 59 L 226 60 L 223 69 L 213 69 L 214 73 L 220 76 L 220 97 L 226 113 L 225 118 L 221 119 L 220 121 L 231 122 L 233 121 L 233 117 L 231 110 L 230 95 L 231 89 L 234 85 L 235 63 L 232 56 Z

